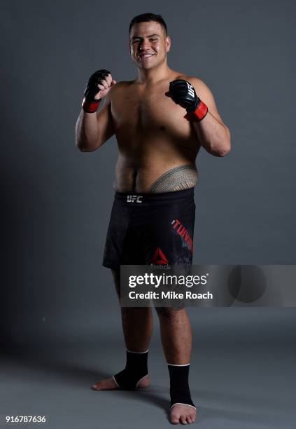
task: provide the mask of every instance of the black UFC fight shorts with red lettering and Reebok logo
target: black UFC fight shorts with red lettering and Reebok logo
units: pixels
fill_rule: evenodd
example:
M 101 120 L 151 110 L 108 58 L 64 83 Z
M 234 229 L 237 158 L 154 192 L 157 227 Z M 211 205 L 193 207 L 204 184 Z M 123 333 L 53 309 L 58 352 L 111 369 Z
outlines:
M 103 266 L 192 264 L 194 226 L 194 188 L 115 192 Z

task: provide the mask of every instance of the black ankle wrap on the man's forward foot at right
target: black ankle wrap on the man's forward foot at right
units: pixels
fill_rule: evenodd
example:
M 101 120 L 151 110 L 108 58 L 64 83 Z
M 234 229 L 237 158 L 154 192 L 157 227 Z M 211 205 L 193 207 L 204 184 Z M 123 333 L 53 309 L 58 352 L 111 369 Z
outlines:
M 167 366 L 169 368 L 169 379 L 171 382 L 169 390 L 171 395 L 171 407 L 173 407 L 174 404 L 188 404 L 192 405 L 192 407 L 195 407 L 195 404 L 193 404 L 191 399 L 188 383 L 190 364 L 168 364 Z

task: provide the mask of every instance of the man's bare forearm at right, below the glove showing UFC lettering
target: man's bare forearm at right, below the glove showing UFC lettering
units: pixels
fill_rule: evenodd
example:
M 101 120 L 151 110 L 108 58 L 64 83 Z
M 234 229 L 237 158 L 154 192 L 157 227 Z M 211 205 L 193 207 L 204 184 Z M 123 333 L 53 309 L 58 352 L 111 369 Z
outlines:
M 200 144 L 214 156 L 225 156 L 230 151 L 230 130 L 210 111 L 199 122 L 192 122 Z

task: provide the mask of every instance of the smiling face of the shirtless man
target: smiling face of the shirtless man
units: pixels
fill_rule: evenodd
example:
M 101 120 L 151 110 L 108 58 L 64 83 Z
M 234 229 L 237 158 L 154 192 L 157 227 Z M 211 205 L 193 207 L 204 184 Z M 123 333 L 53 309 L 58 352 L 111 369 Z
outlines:
M 129 52 L 140 69 L 151 69 L 164 62 L 171 41 L 159 22 L 139 22 L 129 34 Z

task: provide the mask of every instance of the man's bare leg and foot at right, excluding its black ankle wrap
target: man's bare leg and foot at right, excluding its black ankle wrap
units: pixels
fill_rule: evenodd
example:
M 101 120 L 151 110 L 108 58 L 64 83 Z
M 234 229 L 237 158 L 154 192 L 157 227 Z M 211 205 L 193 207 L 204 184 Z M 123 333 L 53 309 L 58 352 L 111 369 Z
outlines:
M 162 347 L 167 362 L 172 365 L 187 365 L 190 363 L 192 348 L 192 330 L 190 320 L 185 311 L 173 308 L 155 307 L 160 320 Z M 176 404 L 171 408 L 171 423 L 193 423 L 197 411 L 185 404 Z

